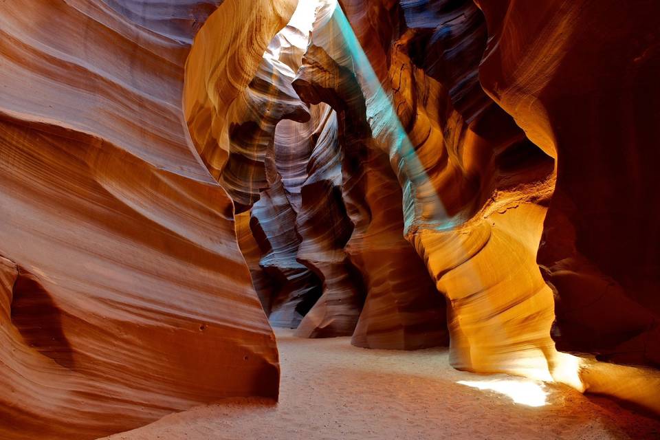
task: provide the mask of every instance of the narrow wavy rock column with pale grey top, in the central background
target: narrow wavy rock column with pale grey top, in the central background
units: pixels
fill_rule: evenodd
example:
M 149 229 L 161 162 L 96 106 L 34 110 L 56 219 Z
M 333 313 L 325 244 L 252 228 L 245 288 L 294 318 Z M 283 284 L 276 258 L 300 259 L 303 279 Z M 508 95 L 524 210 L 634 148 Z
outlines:
M 364 304 L 364 285 L 345 247 L 353 233 L 342 196 L 342 149 L 338 142 L 337 114 L 327 104 L 320 123 L 309 137 L 316 140 L 309 158 L 309 177 L 300 190 L 301 209 L 296 230 L 303 238 L 298 261 L 322 279 L 323 294 L 296 331 L 304 338 L 351 336 Z

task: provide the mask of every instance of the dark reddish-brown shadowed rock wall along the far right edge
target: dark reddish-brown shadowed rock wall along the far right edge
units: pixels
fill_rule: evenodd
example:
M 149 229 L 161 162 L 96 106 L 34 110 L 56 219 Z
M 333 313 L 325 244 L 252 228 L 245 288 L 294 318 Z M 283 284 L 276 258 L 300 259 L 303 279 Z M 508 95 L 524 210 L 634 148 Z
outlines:
M 655 1 L 478 1 L 481 82 L 557 160 L 538 262 L 564 351 L 660 366 Z M 603 32 L 603 30 L 607 32 Z M 532 74 L 533 72 L 533 74 Z M 532 78 L 533 75 L 533 78 Z

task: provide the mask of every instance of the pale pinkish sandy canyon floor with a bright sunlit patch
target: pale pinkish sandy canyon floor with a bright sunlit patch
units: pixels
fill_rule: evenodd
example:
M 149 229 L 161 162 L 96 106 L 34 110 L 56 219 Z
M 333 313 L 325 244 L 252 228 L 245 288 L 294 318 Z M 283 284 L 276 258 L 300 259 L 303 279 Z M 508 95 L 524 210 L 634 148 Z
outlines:
M 567 386 L 456 371 L 447 349 L 277 337 L 278 404 L 231 399 L 107 439 L 660 439 L 658 419 Z

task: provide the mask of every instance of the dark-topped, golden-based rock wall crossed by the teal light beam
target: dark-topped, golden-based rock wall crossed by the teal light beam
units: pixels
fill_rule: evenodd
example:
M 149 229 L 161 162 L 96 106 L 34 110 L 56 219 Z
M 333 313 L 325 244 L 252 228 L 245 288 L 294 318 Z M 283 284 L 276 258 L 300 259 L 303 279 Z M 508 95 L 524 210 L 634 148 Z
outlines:
M 358 23 L 377 23 L 360 15 L 369 8 L 342 4 L 359 12 Z M 358 72 L 360 118 L 403 187 L 402 229 L 451 303 L 454 366 L 547 379 L 552 294 L 534 259 L 552 161 L 478 87 L 485 21 L 474 4 L 391 6 L 401 8 L 403 21 L 386 24 L 400 34 L 383 41 L 388 72 L 370 67 L 339 9 L 330 36 L 315 35 L 314 43 Z M 357 32 L 374 33 L 384 34 Z

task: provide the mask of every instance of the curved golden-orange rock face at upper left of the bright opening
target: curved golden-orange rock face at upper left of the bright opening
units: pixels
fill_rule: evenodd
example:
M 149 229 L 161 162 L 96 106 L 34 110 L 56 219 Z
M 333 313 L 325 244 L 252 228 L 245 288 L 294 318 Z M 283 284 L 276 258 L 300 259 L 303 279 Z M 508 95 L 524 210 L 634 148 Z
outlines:
M 276 122 L 285 115 L 304 118 L 299 114 L 304 110 L 295 101 L 292 105 L 281 102 L 289 96 L 287 84 L 285 78 L 276 79 L 286 76 L 287 66 L 264 58 L 269 43 L 285 27 L 297 4 L 296 0 L 225 0 L 225 13 L 213 14 L 206 21 L 186 61 L 184 112 L 190 137 L 211 175 L 228 188 L 232 197 L 241 195 L 243 201 L 258 198 L 250 182 L 253 178 L 263 182 L 263 168 L 253 169 L 252 162 L 261 162 L 265 155 L 263 143 L 268 144 L 265 138 L 274 133 Z M 263 129 L 261 118 L 270 113 L 259 107 L 270 101 L 259 96 L 261 93 L 280 98 L 272 102 L 277 115 L 267 119 Z M 243 170 L 258 173 L 256 177 L 243 177 L 232 170 L 225 175 L 225 166 L 232 166 L 232 153 L 244 162 Z M 248 185 L 235 186 L 232 177 L 248 179 Z

